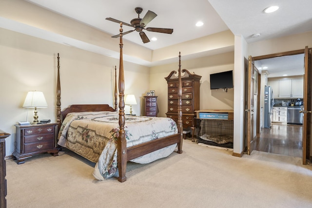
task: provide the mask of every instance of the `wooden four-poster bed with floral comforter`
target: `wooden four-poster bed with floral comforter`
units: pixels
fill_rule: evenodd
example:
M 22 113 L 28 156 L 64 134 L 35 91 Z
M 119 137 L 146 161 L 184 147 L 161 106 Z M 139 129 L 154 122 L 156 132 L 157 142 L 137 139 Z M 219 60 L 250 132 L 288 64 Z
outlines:
M 122 24 L 120 23 L 120 59 L 118 76 L 119 111 L 117 111 L 116 67 L 115 109 L 107 104 L 71 105 L 69 108 L 61 112 L 59 54 L 57 81 L 57 123 L 59 130 L 58 144 L 80 154 L 81 156 L 91 161 L 97 160 L 94 158 L 98 158 L 98 161 L 94 161 L 97 162 L 94 176 L 98 180 L 104 180 L 108 177 L 111 177 L 118 169 L 118 181 L 120 182 L 126 181 L 126 166 L 128 161 L 134 161 L 138 163 L 152 162 L 156 159 L 166 157 L 171 154 L 176 149 L 176 144 L 176 152 L 182 153 L 183 141 L 183 128 L 181 119 L 181 56 L 179 55 L 179 69 L 177 72 L 179 79 L 177 92 L 177 124 L 171 118 L 127 116 L 124 113 L 125 84 L 122 56 L 122 31 Z M 102 126 L 98 126 L 99 123 Z M 104 123 L 105 127 L 103 125 Z M 139 134 L 136 130 L 137 128 L 140 128 L 138 132 L 142 132 L 144 134 Z M 103 134 L 98 132 L 103 132 Z M 106 134 L 104 134 L 105 132 Z M 107 132 L 109 136 L 107 136 Z M 82 139 L 80 138 L 80 140 L 78 140 L 78 135 L 82 135 Z M 96 138 L 99 138 L 99 140 L 96 140 Z M 86 146 L 86 148 L 84 146 Z M 98 149 L 95 149 L 95 147 Z

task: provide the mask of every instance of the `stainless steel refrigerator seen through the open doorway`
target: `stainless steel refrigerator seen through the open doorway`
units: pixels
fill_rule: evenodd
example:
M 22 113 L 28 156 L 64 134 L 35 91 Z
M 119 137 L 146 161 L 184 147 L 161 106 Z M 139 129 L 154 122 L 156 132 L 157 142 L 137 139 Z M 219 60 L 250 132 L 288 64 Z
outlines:
M 270 86 L 264 87 L 264 128 L 271 128 L 272 110 L 274 105 L 273 90 Z

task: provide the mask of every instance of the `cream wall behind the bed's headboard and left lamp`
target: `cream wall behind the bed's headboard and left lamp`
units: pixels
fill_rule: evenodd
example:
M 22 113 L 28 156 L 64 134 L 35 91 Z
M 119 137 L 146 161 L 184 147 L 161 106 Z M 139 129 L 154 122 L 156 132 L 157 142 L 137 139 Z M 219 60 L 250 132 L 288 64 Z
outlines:
M 0 29 L 0 129 L 6 138 L 6 155 L 15 147 L 15 126 L 33 121 L 33 110 L 23 109 L 28 91 L 42 91 L 48 108 L 38 109 L 39 120 L 56 121 L 57 53 L 60 54 L 61 110 L 71 104 L 109 104 L 114 107 L 115 65 L 119 59 L 86 52 L 20 33 Z M 125 94 L 134 94 L 133 113 L 141 114 L 140 97 L 149 90 L 149 68 L 124 62 Z M 129 106 L 125 107 L 129 113 Z

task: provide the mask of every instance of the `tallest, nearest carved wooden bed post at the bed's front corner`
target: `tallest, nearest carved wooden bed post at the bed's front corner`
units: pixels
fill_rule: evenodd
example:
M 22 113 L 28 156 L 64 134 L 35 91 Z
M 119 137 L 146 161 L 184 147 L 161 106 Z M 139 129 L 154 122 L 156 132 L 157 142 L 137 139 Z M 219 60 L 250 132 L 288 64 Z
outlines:
M 127 141 L 125 137 L 124 125 L 125 125 L 125 113 L 124 113 L 124 73 L 123 73 L 123 57 L 122 57 L 122 23 L 120 23 L 120 59 L 119 59 L 119 137 L 117 140 L 117 167 L 118 167 L 118 181 L 124 182 L 126 178 L 127 168 Z

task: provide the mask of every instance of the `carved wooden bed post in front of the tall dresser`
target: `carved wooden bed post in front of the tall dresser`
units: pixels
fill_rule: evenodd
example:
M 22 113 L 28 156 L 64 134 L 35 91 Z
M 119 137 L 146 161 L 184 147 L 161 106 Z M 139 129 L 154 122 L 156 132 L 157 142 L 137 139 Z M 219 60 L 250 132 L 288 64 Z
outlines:
M 177 128 L 180 134 L 180 142 L 177 144 L 177 153 L 182 153 L 183 142 L 183 123 L 182 123 L 182 80 L 181 80 L 181 52 L 179 52 L 179 69 L 178 69 L 179 85 L 177 89 Z

